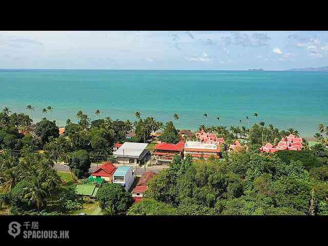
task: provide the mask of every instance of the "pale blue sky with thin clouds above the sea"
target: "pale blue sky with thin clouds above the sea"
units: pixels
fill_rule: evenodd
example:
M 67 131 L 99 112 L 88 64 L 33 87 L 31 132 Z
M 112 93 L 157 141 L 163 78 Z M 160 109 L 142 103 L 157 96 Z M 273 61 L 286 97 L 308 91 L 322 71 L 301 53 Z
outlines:
M 328 66 L 328 31 L 0 31 L 1 69 Z

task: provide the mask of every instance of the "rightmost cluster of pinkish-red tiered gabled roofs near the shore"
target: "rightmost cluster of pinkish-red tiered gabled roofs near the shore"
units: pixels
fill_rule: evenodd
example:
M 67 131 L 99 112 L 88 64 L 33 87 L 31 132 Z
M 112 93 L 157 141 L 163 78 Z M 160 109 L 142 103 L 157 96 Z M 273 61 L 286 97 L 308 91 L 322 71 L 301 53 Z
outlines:
M 261 152 L 271 152 L 274 153 L 279 150 L 294 150 L 294 151 L 300 151 L 303 148 L 303 140 L 301 137 L 297 137 L 293 134 L 290 134 L 287 137 L 283 137 L 278 145 L 274 147 L 270 143 L 266 144 L 265 146 L 262 146 L 260 148 Z

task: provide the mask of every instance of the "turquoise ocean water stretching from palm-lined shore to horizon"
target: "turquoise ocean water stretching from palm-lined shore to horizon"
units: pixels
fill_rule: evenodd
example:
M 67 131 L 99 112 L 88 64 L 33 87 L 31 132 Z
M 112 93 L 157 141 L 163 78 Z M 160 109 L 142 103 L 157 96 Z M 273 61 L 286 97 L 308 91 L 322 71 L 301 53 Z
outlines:
M 59 126 L 76 121 L 77 111 L 90 118 L 135 120 L 142 117 L 173 120 L 179 129 L 199 125 L 247 126 L 258 121 L 279 129 L 293 127 L 312 136 L 319 123 L 328 124 L 328 73 L 260 71 L 155 71 L 155 70 L 0 70 L 0 108 L 44 117 L 54 108 Z M 208 114 L 206 118 L 202 116 Z M 173 120 L 175 122 L 175 120 Z

